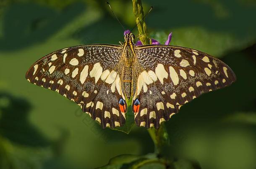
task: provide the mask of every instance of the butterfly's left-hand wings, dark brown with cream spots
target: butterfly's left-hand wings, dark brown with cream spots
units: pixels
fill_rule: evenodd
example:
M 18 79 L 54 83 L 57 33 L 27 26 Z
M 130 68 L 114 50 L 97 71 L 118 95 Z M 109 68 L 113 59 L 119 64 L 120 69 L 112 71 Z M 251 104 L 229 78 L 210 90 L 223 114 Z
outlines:
M 103 128 L 123 126 L 124 98 L 118 72 L 119 45 L 83 45 L 57 50 L 34 63 L 26 73 L 31 83 L 75 101 Z M 125 103 L 126 104 L 126 103 Z

